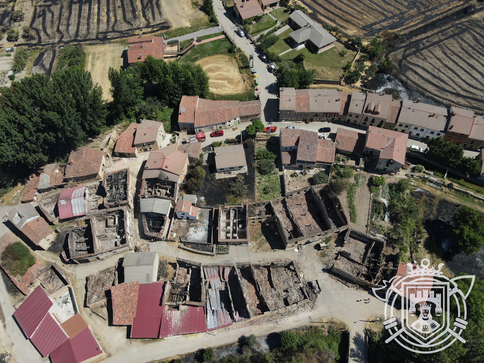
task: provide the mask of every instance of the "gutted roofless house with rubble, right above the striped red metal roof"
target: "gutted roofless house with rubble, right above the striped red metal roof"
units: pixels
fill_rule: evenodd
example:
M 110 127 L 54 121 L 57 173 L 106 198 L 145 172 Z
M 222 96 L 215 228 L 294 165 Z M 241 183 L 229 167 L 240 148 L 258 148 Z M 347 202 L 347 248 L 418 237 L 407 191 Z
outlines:
M 200 266 L 177 261 L 175 276 L 165 286 L 167 305 L 181 303 L 203 305 Z

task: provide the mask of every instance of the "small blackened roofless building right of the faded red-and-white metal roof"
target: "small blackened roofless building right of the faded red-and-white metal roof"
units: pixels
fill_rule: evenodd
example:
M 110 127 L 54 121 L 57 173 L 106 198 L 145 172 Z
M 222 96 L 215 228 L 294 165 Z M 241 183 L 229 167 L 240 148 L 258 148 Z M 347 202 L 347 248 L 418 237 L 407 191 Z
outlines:
M 106 208 L 122 206 L 133 208 L 129 169 L 106 173 L 103 177 L 103 187 L 106 193 L 104 197 Z

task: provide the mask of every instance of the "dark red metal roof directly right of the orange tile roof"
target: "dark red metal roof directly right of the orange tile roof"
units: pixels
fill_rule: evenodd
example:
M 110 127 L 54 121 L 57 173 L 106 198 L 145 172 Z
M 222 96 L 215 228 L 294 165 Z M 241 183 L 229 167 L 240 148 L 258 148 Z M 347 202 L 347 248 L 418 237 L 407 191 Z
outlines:
M 132 338 L 158 338 L 163 314 L 161 298 L 164 282 L 139 284 L 136 316 L 131 326 Z

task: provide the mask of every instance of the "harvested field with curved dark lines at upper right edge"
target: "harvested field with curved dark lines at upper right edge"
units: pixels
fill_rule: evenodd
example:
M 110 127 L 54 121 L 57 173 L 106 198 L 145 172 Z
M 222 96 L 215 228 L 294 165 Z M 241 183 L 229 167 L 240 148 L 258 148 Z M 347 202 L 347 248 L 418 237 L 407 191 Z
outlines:
M 423 32 L 389 56 L 410 87 L 444 105 L 484 112 L 484 11 Z

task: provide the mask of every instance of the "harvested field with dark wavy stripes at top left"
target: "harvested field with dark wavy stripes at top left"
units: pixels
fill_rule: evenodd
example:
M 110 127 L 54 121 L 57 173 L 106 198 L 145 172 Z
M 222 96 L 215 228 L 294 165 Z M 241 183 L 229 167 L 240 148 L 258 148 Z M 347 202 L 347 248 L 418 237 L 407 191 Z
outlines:
M 39 0 L 34 2 L 31 43 L 119 39 L 207 21 L 191 0 Z

